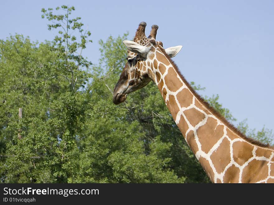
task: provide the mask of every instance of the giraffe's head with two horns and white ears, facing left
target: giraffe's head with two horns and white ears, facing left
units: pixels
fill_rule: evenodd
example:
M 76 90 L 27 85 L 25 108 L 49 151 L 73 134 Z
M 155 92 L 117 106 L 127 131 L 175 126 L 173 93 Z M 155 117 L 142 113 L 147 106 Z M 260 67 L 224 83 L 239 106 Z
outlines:
M 127 94 L 146 86 L 151 80 L 155 82 L 153 60 L 156 58 L 156 50 L 166 53 L 172 58 L 182 48 L 182 46 L 175 46 L 163 49 L 163 43 L 155 40 L 158 26 L 153 25 L 151 27 L 148 37 L 145 35 L 145 27 L 146 23 L 141 22 L 134 40 L 123 41 L 128 48 L 128 55 L 127 63 L 114 88 L 113 103 L 116 105 L 124 102 Z

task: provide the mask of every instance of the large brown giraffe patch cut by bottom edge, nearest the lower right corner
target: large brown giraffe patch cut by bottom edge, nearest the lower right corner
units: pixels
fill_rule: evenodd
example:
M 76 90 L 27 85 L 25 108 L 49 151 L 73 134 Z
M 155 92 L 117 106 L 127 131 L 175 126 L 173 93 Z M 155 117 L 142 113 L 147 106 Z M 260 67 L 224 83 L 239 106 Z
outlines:
M 267 161 L 252 160 L 243 168 L 242 183 L 256 183 L 268 176 Z

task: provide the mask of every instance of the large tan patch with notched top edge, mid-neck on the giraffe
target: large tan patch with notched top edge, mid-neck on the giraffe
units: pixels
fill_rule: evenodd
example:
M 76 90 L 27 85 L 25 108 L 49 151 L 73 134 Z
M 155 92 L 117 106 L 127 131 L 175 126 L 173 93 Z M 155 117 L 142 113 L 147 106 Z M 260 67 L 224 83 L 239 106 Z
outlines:
M 223 126 L 217 126 L 217 120 L 209 117 L 204 125 L 197 129 L 197 136 L 201 143 L 201 148 L 208 153 L 213 145 L 224 135 Z

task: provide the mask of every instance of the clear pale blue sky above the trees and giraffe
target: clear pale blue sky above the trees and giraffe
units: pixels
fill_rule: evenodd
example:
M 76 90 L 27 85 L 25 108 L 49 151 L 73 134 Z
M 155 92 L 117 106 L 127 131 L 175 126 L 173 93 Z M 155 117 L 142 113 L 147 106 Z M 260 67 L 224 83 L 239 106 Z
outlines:
M 100 39 L 127 31 L 131 39 L 141 21 L 147 34 L 157 24 L 165 48 L 183 46 L 173 60 L 189 82 L 206 88 L 199 94 L 219 94 L 235 124 L 248 119 L 250 128 L 274 128 L 274 1 L 0 1 L 0 39 L 53 39 L 41 8 L 63 4 L 74 6 L 91 31 L 83 54 L 94 64 Z

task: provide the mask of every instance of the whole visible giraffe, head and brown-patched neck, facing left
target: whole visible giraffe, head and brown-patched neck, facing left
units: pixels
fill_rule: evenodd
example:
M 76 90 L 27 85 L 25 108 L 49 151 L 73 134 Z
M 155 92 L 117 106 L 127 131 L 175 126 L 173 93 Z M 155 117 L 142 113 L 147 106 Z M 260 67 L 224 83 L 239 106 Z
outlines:
M 158 26 L 145 37 L 141 22 L 134 41 L 124 40 L 128 62 L 118 80 L 113 103 L 150 81 L 157 86 L 188 146 L 213 183 L 274 183 L 274 147 L 243 135 L 209 106 L 171 60 L 182 46 L 163 49 Z

